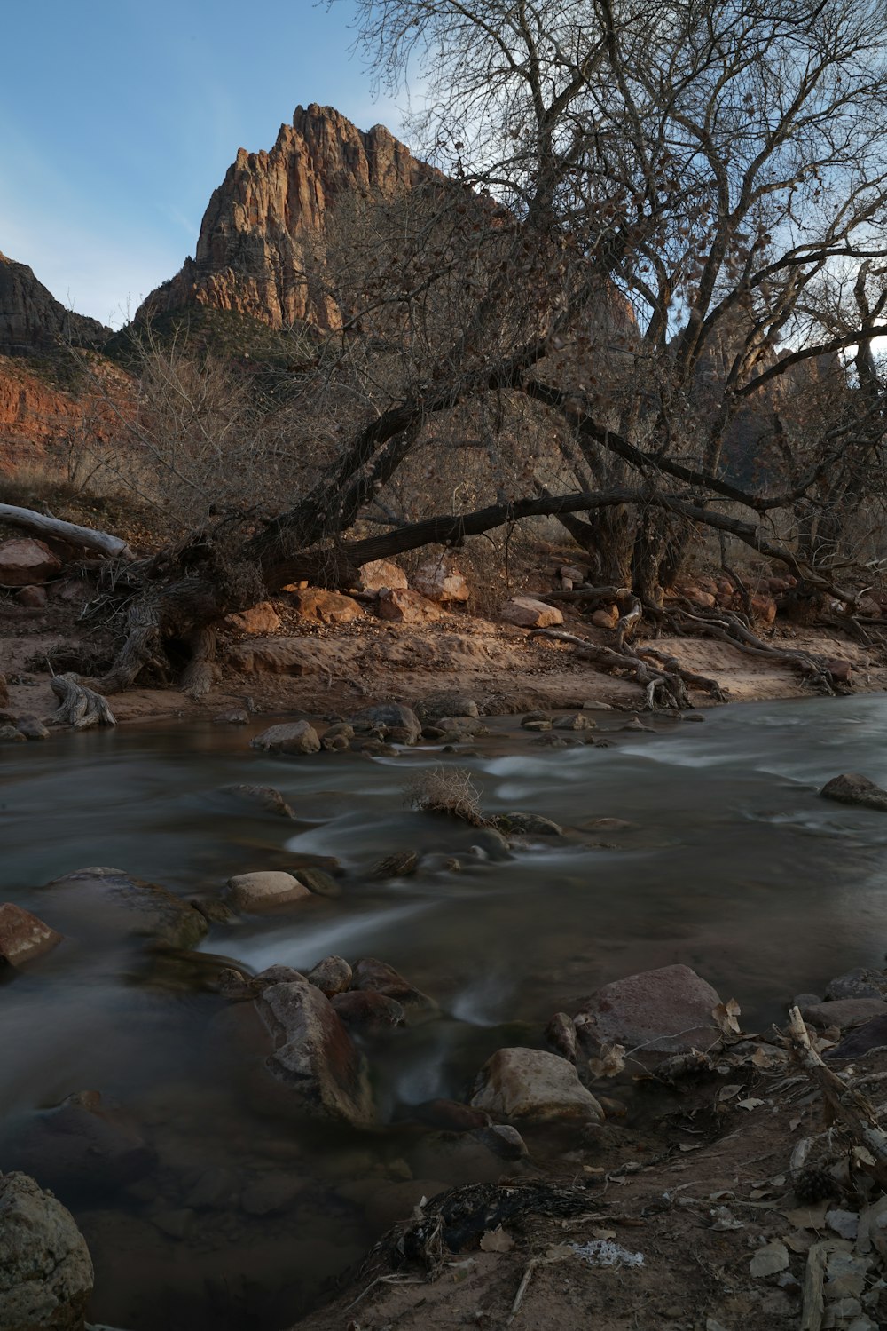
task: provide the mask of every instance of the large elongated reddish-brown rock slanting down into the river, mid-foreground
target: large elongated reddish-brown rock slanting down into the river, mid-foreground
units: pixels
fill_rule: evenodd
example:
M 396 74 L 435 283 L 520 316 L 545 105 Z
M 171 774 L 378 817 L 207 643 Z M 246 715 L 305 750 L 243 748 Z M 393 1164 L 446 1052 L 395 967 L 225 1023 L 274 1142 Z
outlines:
M 370 1126 L 366 1061 L 320 990 L 305 978 L 277 984 L 255 1006 L 274 1041 L 265 1069 L 293 1107 L 310 1118 Z

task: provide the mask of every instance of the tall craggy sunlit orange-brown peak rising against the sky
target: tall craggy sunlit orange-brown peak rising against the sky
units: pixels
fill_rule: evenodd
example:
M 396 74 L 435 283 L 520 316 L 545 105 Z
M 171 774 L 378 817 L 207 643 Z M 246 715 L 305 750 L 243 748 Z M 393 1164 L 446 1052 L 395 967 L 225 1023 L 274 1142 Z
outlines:
M 238 150 L 203 214 L 195 257 L 136 318 L 207 305 L 271 327 L 335 327 L 335 305 L 311 278 L 327 214 L 342 196 L 392 198 L 430 174 L 384 126 L 364 133 L 331 106 L 297 106 L 270 152 Z

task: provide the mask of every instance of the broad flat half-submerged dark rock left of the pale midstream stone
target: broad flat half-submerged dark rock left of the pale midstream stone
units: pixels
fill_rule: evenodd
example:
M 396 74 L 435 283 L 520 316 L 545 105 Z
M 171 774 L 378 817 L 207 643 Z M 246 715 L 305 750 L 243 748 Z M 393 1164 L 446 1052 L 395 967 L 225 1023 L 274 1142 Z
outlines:
M 40 889 L 52 900 L 52 918 L 70 937 L 142 937 L 169 948 L 197 946 L 206 918 L 161 888 L 122 869 L 76 869 Z

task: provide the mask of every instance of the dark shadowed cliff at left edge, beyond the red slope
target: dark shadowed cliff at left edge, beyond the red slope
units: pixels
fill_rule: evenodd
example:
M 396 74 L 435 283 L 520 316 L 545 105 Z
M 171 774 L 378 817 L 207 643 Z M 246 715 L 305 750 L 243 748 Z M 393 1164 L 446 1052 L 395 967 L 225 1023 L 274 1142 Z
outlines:
M 109 337 L 98 319 L 66 310 L 25 264 L 0 254 L 0 355 L 40 355 L 60 341 L 98 346 Z

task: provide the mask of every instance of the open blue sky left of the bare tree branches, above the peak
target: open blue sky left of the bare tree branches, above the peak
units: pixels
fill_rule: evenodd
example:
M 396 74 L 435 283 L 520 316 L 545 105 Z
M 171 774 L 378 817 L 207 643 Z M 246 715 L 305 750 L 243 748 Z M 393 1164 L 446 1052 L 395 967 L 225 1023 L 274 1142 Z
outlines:
M 350 55 L 354 7 L 314 0 L 20 0 L 3 19 L 0 252 L 120 325 L 194 253 L 238 148 L 301 102 L 398 133 Z

